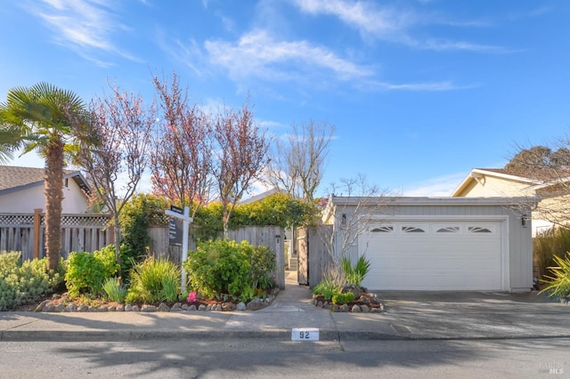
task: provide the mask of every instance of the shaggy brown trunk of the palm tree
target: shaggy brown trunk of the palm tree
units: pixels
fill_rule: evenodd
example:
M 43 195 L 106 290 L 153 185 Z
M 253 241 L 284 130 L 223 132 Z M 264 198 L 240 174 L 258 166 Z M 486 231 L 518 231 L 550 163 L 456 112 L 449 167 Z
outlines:
M 45 149 L 45 254 L 48 269 L 56 270 L 61 250 L 63 200 L 63 142 L 50 141 Z

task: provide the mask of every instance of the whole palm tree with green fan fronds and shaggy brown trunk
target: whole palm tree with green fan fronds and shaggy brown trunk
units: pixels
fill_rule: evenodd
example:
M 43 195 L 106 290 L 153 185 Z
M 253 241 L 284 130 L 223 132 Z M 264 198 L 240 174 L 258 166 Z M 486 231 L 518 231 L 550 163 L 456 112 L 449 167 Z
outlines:
M 14 151 L 36 150 L 45 157 L 45 251 L 48 266 L 57 268 L 61 249 L 61 200 L 66 154 L 89 138 L 89 117 L 77 94 L 38 83 L 14 87 L 0 103 L 0 159 Z

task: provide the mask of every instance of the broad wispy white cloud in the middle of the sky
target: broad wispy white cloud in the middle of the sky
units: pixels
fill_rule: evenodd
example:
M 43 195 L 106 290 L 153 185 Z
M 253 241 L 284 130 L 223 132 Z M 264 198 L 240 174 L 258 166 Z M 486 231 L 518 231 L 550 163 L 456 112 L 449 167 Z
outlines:
M 343 59 L 325 47 L 304 40 L 280 41 L 261 29 L 247 33 L 235 44 L 207 41 L 205 48 L 210 61 L 227 69 L 235 79 L 305 80 L 326 71 L 347 81 L 373 74 L 370 68 Z

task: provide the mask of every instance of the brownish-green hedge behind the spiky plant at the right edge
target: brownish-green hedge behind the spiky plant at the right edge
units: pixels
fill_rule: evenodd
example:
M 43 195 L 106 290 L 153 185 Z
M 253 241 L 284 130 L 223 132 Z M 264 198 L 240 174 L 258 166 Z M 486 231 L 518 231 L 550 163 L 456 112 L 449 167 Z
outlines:
M 533 266 L 541 279 L 555 263 L 554 257 L 564 257 L 570 251 L 570 229 L 552 228 L 533 238 Z

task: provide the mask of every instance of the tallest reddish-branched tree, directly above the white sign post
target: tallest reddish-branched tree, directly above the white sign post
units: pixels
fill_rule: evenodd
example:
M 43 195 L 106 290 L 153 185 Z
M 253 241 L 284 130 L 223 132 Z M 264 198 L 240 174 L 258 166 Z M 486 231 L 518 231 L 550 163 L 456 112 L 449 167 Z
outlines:
M 151 181 L 154 194 L 181 206 L 198 206 L 208 201 L 212 165 L 211 125 L 196 104 L 188 104 L 188 88 L 181 89 L 174 74 L 170 86 L 153 79 L 163 112 L 162 124 L 151 153 Z

